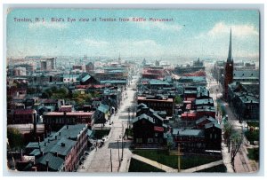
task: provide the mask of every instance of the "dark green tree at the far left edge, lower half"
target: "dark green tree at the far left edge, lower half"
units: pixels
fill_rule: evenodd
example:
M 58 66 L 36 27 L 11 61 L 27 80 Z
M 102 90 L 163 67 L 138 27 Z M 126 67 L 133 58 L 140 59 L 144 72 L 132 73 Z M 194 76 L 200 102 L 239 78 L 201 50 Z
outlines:
M 20 149 L 23 147 L 23 137 L 19 129 L 7 128 L 7 138 L 11 149 Z

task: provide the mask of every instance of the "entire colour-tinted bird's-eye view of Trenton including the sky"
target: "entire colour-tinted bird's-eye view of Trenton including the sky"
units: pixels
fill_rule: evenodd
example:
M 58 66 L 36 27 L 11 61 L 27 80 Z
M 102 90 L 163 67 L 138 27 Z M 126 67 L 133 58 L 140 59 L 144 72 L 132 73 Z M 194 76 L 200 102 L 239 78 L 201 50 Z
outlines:
M 259 16 L 12 9 L 7 168 L 256 173 Z

